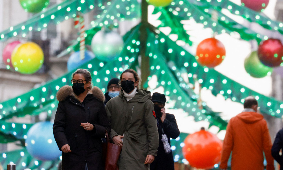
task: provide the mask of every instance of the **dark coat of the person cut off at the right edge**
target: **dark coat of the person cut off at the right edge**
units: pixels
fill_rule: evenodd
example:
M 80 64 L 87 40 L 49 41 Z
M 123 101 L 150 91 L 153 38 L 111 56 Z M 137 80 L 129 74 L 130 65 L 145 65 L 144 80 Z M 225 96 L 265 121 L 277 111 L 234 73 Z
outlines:
M 280 164 L 280 170 L 283 170 L 283 155 L 279 155 L 280 150 L 283 148 L 283 129 L 279 130 L 276 134 L 275 141 L 271 148 L 271 155 Z

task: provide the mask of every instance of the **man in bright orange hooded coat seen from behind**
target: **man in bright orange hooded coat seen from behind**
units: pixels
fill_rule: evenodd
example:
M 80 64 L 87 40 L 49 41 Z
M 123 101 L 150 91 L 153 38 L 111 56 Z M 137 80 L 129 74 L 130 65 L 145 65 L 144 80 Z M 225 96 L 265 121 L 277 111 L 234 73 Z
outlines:
M 227 169 L 232 151 L 231 170 L 263 170 L 263 151 L 266 170 L 274 170 L 271 139 L 266 121 L 257 112 L 258 102 L 245 98 L 242 113 L 230 119 L 221 153 L 220 169 Z

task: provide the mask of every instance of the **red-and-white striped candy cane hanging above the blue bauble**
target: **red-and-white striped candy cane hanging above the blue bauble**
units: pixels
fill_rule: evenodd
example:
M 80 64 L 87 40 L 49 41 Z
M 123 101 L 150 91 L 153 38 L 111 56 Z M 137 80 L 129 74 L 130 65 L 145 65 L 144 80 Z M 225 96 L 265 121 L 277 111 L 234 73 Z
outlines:
M 74 18 L 75 28 L 79 27 L 80 31 L 80 59 L 85 59 L 85 20 L 82 15 L 77 15 Z

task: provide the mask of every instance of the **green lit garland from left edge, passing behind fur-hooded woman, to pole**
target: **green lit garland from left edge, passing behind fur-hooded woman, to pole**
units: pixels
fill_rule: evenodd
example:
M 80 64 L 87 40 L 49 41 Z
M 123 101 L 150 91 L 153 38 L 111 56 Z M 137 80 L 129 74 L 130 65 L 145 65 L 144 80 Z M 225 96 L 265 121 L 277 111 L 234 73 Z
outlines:
M 133 30 L 137 31 L 138 27 L 135 27 Z M 134 35 L 134 32 L 130 31 L 127 33 L 124 37 L 125 38 L 132 38 L 132 35 Z M 127 61 L 129 63 L 132 63 L 133 61 L 136 61 L 136 57 L 138 56 L 139 52 L 139 42 L 138 38 L 136 38 L 136 43 L 129 42 L 129 40 L 126 41 L 125 47 L 123 51 L 121 52 L 121 56 L 125 56 L 127 58 Z M 138 45 L 137 45 L 138 44 Z M 131 47 L 131 48 L 129 48 Z M 129 49 L 129 50 L 128 50 Z M 121 58 L 116 58 L 115 61 L 119 61 Z M 114 61 L 113 61 L 114 62 Z M 82 66 L 79 66 L 79 68 L 87 68 L 90 70 L 93 76 L 93 83 L 96 85 L 97 83 L 100 83 L 100 81 L 108 82 L 108 78 L 97 78 L 98 72 L 101 68 L 104 67 L 103 62 L 99 61 L 98 59 L 93 59 L 90 62 L 87 62 L 83 64 Z M 120 67 L 116 68 L 119 71 L 123 70 L 121 68 L 122 63 L 119 63 Z M 76 70 L 76 69 L 74 69 Z M 74 70 L 64 74 L 63 76 L 51 80 L 47 82 L 45 85 L 32 89 L 31 91 L 22 94 L 16 98 L 12 98 L 10 100 L 7 100 L 5 102 L 0 103 L 0 118 L 2 120 L 9 119 L 13 116 L 17 117 L 23 117 L 25 115 L 31 115 L 31 114 L 38 114 L 40 111 L 52 111 L 57 106 L 56 105 L 56 93 L 60 89 L 60 87 L 64 85 L 70 85 L 71 81 L 71 75 Z M 116 70 L 116 72 L 118 71 Z M 107 75 L 107 73 L 103 73 L 104 76 Z M 106 91 L 106 86 L 102 88 L 102 91 Z M 41 109 L 42 108 L 42 109 Z

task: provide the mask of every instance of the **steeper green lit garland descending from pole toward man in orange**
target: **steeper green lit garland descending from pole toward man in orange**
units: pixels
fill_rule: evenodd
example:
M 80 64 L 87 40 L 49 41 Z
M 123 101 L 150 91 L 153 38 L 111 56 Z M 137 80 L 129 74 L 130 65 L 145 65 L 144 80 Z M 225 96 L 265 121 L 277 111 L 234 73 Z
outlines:
M 204 120 L 209 122 L 209 127 L 215 125 L 219 127 L 219 130 L 225 130 L 227 122 L 204 103 L 202 104 L 203 109 L 199 108 L 197 95 L 183 81 L 180 74 L 172 74 L 176 67 L 166 64 L 166 59 L 160 52 L 161 49 L 156 45 L 155 35 L 153 33 L 148 33 L 148 35 L 147 56 L 150 57 L 151 64 L 151 76 L 148 79 L 150 80 L 153 75 L 156 75 L 158 78 L 156 87 L 162 86 L 164 88 L 164 93 L 170 97 L 169 103 L 174 103 L 173 108 L 183 109 L 188 113 L 188 116 L 194 116 L 196 122 Z M 172 68 L 173 72 L 169 68 Z M 145 88 L 147 87 L 146 84 Z

